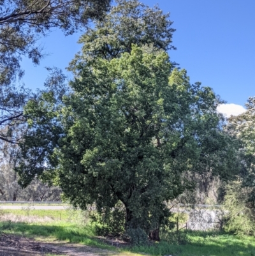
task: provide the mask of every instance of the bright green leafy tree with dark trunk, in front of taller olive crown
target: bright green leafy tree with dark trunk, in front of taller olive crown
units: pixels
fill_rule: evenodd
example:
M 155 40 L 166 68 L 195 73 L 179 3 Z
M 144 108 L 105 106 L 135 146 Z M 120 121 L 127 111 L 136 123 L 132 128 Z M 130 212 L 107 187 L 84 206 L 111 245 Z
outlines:
M 38 116 L 61 123 L 57 143 L 43 140 L 55 145 L 50 158 L 57 159 L 59 185 L 82 209 L 96 202 L 102 212 L 120 200 L 126 207 L 126 229 L 140 228 L 159 239 L 159 227 L 169 216 L 164 202 L 191 186 L 181 174 L 201 171 L 200 165 L 215 174 L 226 171 L 215 94 L 189 84 L 184 70 L 171 72 L 168 54 L 155 49 L 133 46 L 118 59 L 77 68 L 79 76 L 70 84 L 73 93 L 64 97 L 61 109 Z M 52 95 L 43 97 L 36 112 L 34 103 L 27 106 L 34 121 L 42 109 L 52 108 Z M 220 160 L 210 153 L 218 153 Z M 21 175 L 32 174 L 24 170 L 21 166 Z

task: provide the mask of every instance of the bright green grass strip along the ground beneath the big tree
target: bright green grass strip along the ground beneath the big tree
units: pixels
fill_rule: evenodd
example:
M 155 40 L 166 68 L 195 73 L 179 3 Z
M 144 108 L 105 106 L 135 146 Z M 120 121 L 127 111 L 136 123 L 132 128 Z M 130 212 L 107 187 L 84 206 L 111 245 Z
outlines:
M 6 210 L 7 211 L 7 210 Z M 22 210 L 8 210 L 15 215 L 24 215 Z M 54 213 L 55 212 L 55 213 Z M 63 216 L 59 220 L 59 214 Z M 151 246 L 133 246 L 130 248 L 116 249 L 101 242 L 95 235 L 92 225 L 81 225 L 69 222 L 69 211 L 59 210 L 31 210 L 34 216 L 54 216 L 53 222 L 46 223 L 13 223 L 2 222 L 0 229 L 4 232 L 37 237 L 38 239 L 57 239 L 59 241 L 81 243 L 115 251 L 116 255 L 131 255 L 131 253 L 146 253 L 147 255 L 162 256 L 255 256 L 255 238 L 248 236 L 234 236 L 224 232 L 187 232 L 187 243 L 177 245 L 161 241 Z M 74 213 L 71 213 L 74 215 Z M 64 217 L 65 216 L 65 217 Z M 136 254 L 138 255 L 138 254 Z

